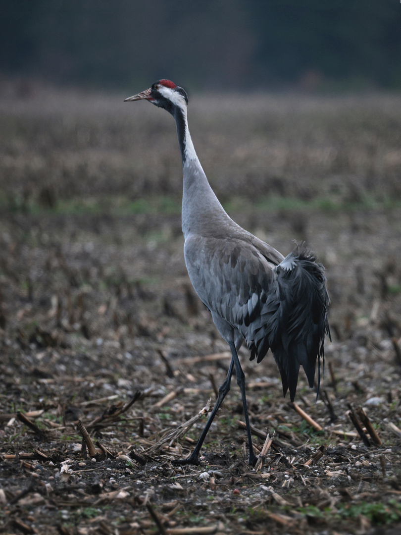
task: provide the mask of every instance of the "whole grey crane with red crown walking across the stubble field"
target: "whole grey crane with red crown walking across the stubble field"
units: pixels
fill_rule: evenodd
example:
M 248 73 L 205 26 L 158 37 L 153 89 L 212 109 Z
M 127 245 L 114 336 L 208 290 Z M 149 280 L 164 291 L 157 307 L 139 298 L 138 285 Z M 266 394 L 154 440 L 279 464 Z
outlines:
M 256 358 L 259 363 L 270 348 L 280 371 L 283 395 L 289 389 L 291 401 L 300 365 L 313 387 L 318 361 L 319 392 L 325 335 L 330 335 L 324 268 L 304 244 L 297 244 L 284 258 L 228 216 L 196 155 L 188 129 L 188 96 L 182 87 L 170 80 L 159 80 L 125 102 L 139 100 L 164 108 L 175 119 L 183 169 L 184 259 L 192 286 L 232 354 L 227 377 L 194 452 L 176 463 L 199 463 L 199 452 L 230 390 L 235 368 L 244 408 L 249 464 L 254 466 L 257 457 L 246 406 L 245 376 L 237 351 L 245 341 L 251 351 L 250 360 Z

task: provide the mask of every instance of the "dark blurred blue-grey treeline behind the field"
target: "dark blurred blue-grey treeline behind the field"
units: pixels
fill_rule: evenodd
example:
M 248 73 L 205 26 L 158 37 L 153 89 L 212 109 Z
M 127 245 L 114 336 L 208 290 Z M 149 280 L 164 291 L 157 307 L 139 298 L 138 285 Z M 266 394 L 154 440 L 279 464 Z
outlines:
M 92 87 L 401 87 L 398 0 L 1 0 L 0 72 Z M 334 86 L 333 86 L 334 87 Z

